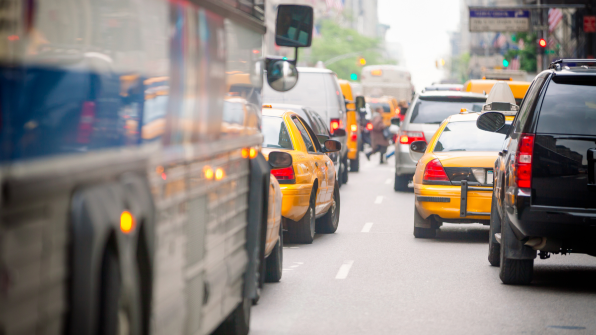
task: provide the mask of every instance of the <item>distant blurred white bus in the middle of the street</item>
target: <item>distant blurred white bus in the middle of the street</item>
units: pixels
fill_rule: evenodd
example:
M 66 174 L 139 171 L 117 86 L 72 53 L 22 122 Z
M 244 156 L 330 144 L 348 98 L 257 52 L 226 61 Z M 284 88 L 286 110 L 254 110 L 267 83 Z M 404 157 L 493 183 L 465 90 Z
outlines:
M 371 65 L 362 68 L 360 76 L 365 97 L 393 97 L 396 100 L 412 100 L 414 86 L 408 70 L 396 65 Z

